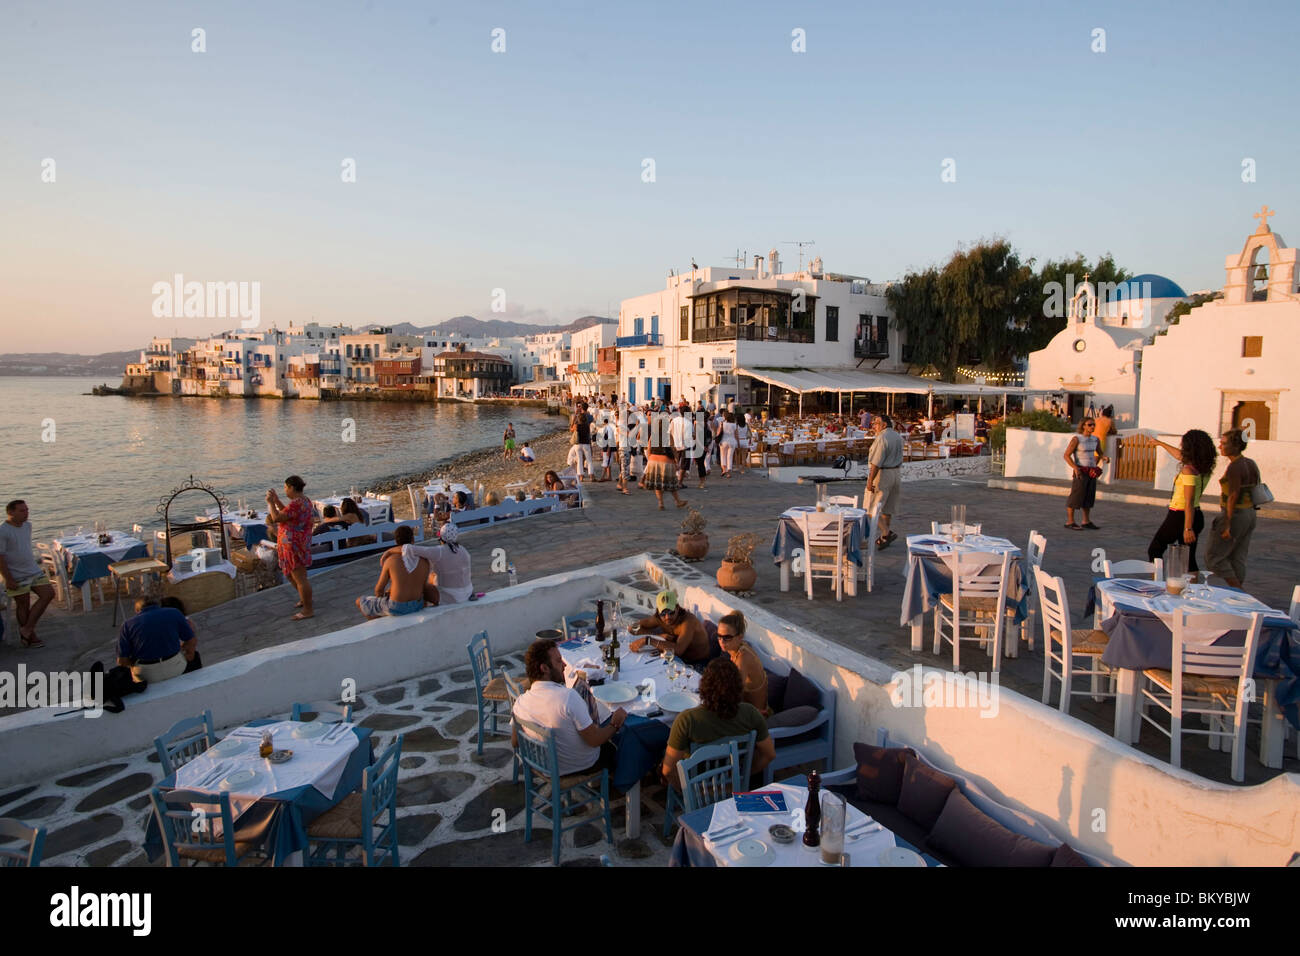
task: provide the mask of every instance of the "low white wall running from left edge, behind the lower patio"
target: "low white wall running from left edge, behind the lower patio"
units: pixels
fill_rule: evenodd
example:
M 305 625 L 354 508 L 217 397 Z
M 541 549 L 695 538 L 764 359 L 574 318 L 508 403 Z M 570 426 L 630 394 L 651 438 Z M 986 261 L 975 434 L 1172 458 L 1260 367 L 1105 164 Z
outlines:
M 607 576 L 640 570 L 625 558 L 599 570 L 551 575 L 494 591 L 478 601 L 430 607 L 400 618 L 365 620 L 343 631 L 255 650 L 185 679 L 152 684 L 126 697 L 121 714 L 86 718 L 56 709 L 0 718 L 0 790 L 103 763 L 153 745 L 186 717 L 212 710 L 217 727 L 287 713 L 294 701 L 338 700 L 342 682 L 372 691 L 421 674 L 468 667 L 465 645 L 486 631 L 495 654 L 521 650 L 586 598 Z

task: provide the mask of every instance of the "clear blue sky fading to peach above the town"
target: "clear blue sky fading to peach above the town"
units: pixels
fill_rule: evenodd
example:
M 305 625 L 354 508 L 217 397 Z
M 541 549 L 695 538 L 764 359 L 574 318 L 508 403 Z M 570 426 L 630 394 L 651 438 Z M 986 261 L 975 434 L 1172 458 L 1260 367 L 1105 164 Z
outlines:
M 155 316 L 177 273 L 281 328 L 616 315 L 794 241 L 875 281 L 1004 237 L 1218 287 L 1261 206 L 1300 234 L 1297 31 L 1268 0 L 6 0 L 0 352 L 238 324 Z

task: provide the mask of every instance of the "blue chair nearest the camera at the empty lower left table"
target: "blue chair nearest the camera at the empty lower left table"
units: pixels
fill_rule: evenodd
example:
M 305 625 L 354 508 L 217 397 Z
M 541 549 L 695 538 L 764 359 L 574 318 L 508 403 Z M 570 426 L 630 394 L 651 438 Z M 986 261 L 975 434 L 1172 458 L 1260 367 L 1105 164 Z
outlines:
M 263 800 L 239 814 L 239 826 L 235 827 L 230 813 L 230 795 L 225 792 L 207 793 L 199 790 L 155 787 L 150 792 L 150 799 L 153 803 L 159 829 L 162 831 L 168 866 L 181 866 L 182 860 L 187 864 L 238 866 L 244 857 L 265 845 L 280 819 L 281 804 Z M 218 806 L 218 814 L 212 814 L 211 810 L 195 814 L 195 806 L 211 808 L 213 804 Z M 220 836 L 216 834 L 218 822 Z M 269 857 L 261 853 L 257 862 L 265 864 L 268 860 Z

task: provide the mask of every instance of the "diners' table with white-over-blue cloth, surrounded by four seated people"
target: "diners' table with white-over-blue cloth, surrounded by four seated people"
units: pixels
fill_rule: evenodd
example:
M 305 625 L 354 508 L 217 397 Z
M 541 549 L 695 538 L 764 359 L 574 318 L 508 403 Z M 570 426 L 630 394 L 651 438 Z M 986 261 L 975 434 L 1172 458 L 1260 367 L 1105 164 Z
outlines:
M 586 628 L 582 631 L 585 633 Z M 637 685 L 651 682 L 651 685 L 646 687 L 641 696 L 630 704 L 618 705 L 628 713 L 628 721 L 623 726 L 623 735 L 619 739 L 619 758 L 610 774 L 610 780 L 616 790 L 627 793 L 627 835 L 628 839 L 637 839 L 641 835 L 641 778 L 663 762 L 663 754 L 668 747 L 668 731 L 677 717 L 670 713 L 660 713 L 658 717 L 651 717 L 651 714 L 659 710 L 658 697 L 670 689 L 682 689 L 698 696 L 699 674 L 688 667 L 686 674 L 679 678 L 677 688 L 672 688 L 662 654 L 658 650 L 654 653 L 629 650 L 628 643 L 630 640 L 636 640 L 636 637 L 627 633 L 619 636 L 619 683 Z M 603 661 L 604 645 L 595 643 L 594 628 L 592 636 L 564 641 L 559 649 L 566 670 L 575 669 L 581 661 Z M 573 685 L 576 678 L 575 672 L 569 678 L 569 687 Z M 601 700 L 597 700 L 595 705 L 601 723 L 603 723 L 614 709 Z

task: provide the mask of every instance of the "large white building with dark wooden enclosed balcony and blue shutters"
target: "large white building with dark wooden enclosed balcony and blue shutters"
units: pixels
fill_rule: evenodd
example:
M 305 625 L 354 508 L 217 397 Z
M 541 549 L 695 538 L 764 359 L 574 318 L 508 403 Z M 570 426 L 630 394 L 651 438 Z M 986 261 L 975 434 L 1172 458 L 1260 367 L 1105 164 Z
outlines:
M 619 307 L 619 392 L 742 405 L 767 402 L 763 369 L 901 371 L 885 285 L 822 271 L 783 273 L 776 250 L 749 268 L 705 267 Z M 738 371 L 737 371 L 738 369 Z

